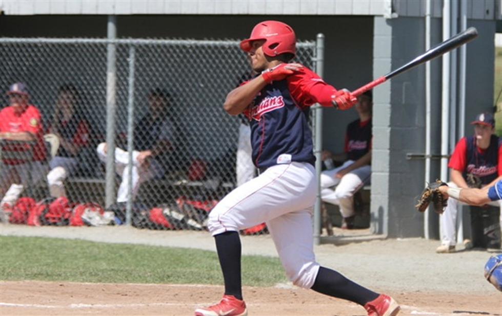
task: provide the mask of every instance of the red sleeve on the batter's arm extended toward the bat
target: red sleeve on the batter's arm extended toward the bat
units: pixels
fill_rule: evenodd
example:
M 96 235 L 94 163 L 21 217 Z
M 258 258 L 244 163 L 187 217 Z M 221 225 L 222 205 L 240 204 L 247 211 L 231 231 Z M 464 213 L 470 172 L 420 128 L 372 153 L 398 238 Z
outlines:
M 333 106 L 331 99 L 336 89 L 307 67 L 302 67 L 295 74 L 288 76 L 287 81 L 291 96 L 298 105 L 311 106 L 319 103 L 323 106 Z

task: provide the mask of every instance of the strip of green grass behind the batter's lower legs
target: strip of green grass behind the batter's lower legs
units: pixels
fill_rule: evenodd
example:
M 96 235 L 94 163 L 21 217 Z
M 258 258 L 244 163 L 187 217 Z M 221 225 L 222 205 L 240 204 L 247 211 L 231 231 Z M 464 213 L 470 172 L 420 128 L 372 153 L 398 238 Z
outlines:
M 223 284 L 216 253 L 40 237 L 0 237 L 0 280 Z M 243 256 L 243 285 L 286 282 L 278 258 Z

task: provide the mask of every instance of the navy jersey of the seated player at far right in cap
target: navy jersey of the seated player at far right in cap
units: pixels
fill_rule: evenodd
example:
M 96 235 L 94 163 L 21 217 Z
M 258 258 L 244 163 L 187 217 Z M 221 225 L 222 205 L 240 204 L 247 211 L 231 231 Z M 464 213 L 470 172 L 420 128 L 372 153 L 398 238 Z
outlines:
M 481 183 L 489 184 L 498 176 L 498 148 L 499 139 L 491 136 L 490 146 L 483 152 L 479 152 L 474 136 L 467 137 L 467 167 L 463 172 L 464 178 L 467 173 L 472 173 L 481 178 Z

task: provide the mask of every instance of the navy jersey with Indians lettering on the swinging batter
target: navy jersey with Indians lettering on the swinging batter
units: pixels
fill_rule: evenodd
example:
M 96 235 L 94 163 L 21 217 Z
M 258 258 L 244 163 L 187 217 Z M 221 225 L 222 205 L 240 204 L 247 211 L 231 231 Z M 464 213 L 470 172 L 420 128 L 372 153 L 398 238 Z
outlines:
M 257 168 L 277 164 L 314 164 L 309 107 L 296 104 L 288 81 L 266 85 L 246 109 L 250 120 L 252 159 Z

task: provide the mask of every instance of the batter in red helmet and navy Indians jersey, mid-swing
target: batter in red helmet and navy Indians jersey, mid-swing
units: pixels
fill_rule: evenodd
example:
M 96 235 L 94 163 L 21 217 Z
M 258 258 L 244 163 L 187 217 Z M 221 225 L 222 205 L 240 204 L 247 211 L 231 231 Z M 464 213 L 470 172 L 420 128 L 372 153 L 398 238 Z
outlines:
M 252 159 L 260 174 L 230 192 L 209 214 L 209 230 L 225 281 L 218 304 L 195 315 L 247 315 L 242 296 L 239 230 L 267 223 L 288 278 L 297 286 L 355 302 L 369 315 L 395 315 L 397 303 L 366 289 L 315 261 L 312 210 L 317 190 L 308 124 L 309 106 L 317 103 L 349 109 L 357 103 L 315 73 L 288 63 L 296 53 L 293 29 L 264 21 L 240 43 L 258 76 L 233 89 L 224 108 L 250 121 Z

